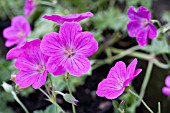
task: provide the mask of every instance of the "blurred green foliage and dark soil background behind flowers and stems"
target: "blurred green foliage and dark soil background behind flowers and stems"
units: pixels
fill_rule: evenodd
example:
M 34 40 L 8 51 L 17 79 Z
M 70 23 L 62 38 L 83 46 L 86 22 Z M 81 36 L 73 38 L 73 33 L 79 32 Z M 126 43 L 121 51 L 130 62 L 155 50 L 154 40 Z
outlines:
M 159 20 L 162 25 L 170 22 L 169 0 L 35 0 L 35 2 L 36 9 L 27 18 L 32 28 L 28 40 L 42 39 L 49 32 L 58 32 L 59 26 L 56 26 L 54 22 L 41 18 L 45 14 L 67 15 L 86 11 L 94 13 L 92 18 L 80 22 L 83 31 L 90 31 L 95 35 L 99 42 L 99 50 L 90 58 L 92 69 L 86 75 L 79 78 L 71 77 L 73 95 L 79 100 L 76 107 L 77 113 L 113 113 L 114 111 L 111 101 L 99 98 L 95 91 L 98 83 L 107 76 L 116 61 L 122 60 L 129 64 L 133 59 L 131 55 L 114 59 L 114 56 L 118 54 L 114 52 L 115 48 L 125 51 L 137 45 L 136 40 L 128 37 L 127 34 L 128 17 L 126 13 L 129 6 L 148 8 L 152 12 L 152 18 Z M 4 46 L 6 40 L 3 38 L 2 31 L 11 25 L 13 17 L 24 15 L 24 4 L 25 0 L 0 0 L 0 84 L 6 81 L 15 86 L 10 81 L 10 77 L 12 73 L 17 72 L 17 69 L 13 66 L 14 61 L 6 60 L 6 54 L 11 48 Z M 170 33 L 167 33 L 167 39 L 170 41 L 169 35 Z M 156 46 L 156 51 L 162 50 L 162 45 L 156 44 L 154 47 Z M 152 51 L 146 50 L 142 52 L 152 53 Z M 164 62 L 161 55 L 158 54 L 156 57 Z M 139 93 L 148 61 L 138 60 L 138 67 L 142 68 L 143 72 L 134 79 L 132 86 Z M 104 62 L 96 63 L 96 61 Z M 154 66 L 151 72 L 151 79 L 144 100 L 155 112 L 157 111 L 158 102 L 161 102 L 162 113 L 170 112 L 168 108 L 170 107 L 170 98 L 162 94 L 164 79 L 169 71 L 170 69 L 161 69 Z M 56 89 L 67 92 L 63 76 L 53 77 L 53 80 Z M 46 97 L 39 90 L 29 87 L 16 89 L 16 92 L 30 113 L 53 113 L 53 106 L 45 100 Z M 120 99 L 124 99 L 127 104 L 125 113 L 148 113 L 143 105 L 136 107 L 136 98 L 131 95 L 124 94 L 117 101 L 120 102 Z M 64 110 L 71 112 L 71 105 L 66 103 L 62 97 L 58 96 L 57 101 Z M 0 113 L 24 113 L 20 105 L 14 101 L 12 95 L 5 92 L 2 87 L 0 87 Z

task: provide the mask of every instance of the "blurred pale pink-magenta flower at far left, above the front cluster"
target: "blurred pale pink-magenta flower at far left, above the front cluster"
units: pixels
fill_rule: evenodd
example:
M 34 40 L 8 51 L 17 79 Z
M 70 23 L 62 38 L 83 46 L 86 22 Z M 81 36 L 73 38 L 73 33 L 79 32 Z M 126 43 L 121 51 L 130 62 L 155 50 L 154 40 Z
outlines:
M 31 32 L 29 22 L 23 16 L 16 16 L 12 19 L 12 24 L 3 31 L 6 47 L 22 45 Z

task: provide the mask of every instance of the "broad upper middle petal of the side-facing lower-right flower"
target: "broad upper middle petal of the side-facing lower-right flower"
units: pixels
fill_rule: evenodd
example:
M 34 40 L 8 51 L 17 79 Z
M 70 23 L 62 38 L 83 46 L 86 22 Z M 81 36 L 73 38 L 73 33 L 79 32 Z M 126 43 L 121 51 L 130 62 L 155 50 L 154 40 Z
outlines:
M 126 75 L 126 65 L 124 62 L 119 61 L 109 71 L 107 78 L 113 78 L 117 81 L 124 82 L 128 76 Z

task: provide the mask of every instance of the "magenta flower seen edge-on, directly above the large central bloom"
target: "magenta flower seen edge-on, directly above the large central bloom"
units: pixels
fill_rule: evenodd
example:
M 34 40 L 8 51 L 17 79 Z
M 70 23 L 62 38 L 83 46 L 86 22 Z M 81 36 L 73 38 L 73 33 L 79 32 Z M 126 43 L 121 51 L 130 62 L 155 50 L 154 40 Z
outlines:
M 58 24 L 63 24 L 64 22 L 79 22 L 83 19 L 92 17 L 93 13 L 91 12 L 85 12 L 82 14 L 69 14 L 66 16 L 60 16 L 60 15 L 51 15 L 51 16 L 43 16 L 43 18 L 47 20 L 51 20 L 54 22 L 57 22 Z

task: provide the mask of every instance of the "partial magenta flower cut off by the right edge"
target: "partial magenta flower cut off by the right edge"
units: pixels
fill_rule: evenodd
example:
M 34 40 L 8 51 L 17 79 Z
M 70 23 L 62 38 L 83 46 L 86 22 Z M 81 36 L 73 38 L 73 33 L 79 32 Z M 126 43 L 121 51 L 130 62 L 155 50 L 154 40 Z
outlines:
M 170 96 L 170 75 L 168 75 L 165 79 L 165 85 L 162 88 L 162 92 L 163 94 L 165 94 L 166 96 Z

